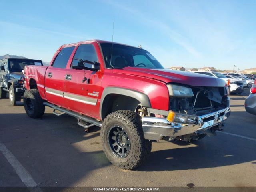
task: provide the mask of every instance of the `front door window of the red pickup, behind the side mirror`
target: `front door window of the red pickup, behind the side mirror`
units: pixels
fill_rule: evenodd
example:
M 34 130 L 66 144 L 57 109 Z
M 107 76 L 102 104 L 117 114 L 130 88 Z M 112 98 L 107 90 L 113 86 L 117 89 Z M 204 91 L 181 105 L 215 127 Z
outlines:
M 74 58 L 82 59 L 82 60 L 88 60 L 88 61 L 97 61 L 98 62 L 98 57 L 97 57 L 97 54 L 96 54 L 96 50 L 95 50 L 95 48 L 92 44 L 82 44 L 82 45 L 80 45 L 76 50 Z M 77 66 L 77 65 L 79 65 L 79 62 L 80 61 L 73 59 L 71 66 Z

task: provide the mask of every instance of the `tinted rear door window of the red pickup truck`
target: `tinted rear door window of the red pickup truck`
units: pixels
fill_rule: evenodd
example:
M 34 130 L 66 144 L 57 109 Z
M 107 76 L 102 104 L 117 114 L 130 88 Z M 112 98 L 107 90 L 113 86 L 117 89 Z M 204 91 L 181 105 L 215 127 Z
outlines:
M 60 50 L 59 54 L 56 56 L 52 66 L 57 68 L 66 68 L 68 59 L 75 47 L 65 47 Z

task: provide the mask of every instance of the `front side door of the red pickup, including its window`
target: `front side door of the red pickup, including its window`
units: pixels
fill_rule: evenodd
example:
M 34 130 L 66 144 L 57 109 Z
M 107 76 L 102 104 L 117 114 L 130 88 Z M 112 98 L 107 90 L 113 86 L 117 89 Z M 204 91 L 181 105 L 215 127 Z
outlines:
M 74 58 L 98 61 L 93 44 L 78 46 Z M 64 100 L 67 108 L 88 116 L 99 118 L 99 92 L 101 88 L 100 72 L 78 70 L 72 68 L 80 61 L 72 59 L 70 68 L 66 70 L 64 82 Z

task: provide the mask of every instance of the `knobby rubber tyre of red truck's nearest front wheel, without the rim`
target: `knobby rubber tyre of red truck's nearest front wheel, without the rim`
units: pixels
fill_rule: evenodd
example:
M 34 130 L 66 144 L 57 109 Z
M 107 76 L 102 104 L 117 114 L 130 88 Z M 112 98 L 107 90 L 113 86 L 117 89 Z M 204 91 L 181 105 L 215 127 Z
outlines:
M 125 158 L 117 157 L 108 145 L 108 132 L 114 125 L 121 126 L 130 139 L 130 152 Z M 144 138 L 140 116 L 130 110 L 119 110 L 109 114 L 101 127 L 103 151 L 108 160 L 121 169 L 132 170 L 149 156 L 152 142 Z

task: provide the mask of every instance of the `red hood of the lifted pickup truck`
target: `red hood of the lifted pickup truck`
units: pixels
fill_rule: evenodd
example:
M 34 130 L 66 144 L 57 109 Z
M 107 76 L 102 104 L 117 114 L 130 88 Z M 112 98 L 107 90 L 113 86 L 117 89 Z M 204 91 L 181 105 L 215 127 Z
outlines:
M 171 69 L 125 67 L 122 69 L 113 69 L 112 72 L 152 78 L 165 83 L 180 83 L 190 86 L 223 87 L 226 84 L 225 81 L 220 78 Z

